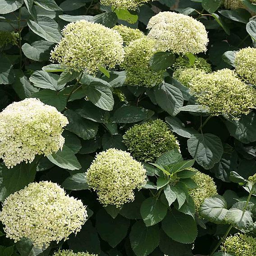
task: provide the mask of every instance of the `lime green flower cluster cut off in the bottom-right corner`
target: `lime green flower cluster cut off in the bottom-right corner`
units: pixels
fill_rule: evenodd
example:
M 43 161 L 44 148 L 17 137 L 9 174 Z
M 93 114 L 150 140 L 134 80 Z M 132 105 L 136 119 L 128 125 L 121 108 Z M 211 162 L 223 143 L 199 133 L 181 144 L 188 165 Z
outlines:
M 256 238 L 246 234 L 235 234 L 225 239 L 221 251 L 233 253 L 235 256 L 255 256 Z

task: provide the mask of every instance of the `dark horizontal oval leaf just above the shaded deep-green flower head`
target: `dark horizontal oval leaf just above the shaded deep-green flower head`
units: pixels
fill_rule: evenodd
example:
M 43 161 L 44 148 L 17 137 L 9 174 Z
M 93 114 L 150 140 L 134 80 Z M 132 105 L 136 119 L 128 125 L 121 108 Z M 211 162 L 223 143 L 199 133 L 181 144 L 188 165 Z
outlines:
M 141 107 L 123 106 L 114 112 L 114 120 L 117 123 L 137 123 L 150 118 L 154 112 Z

